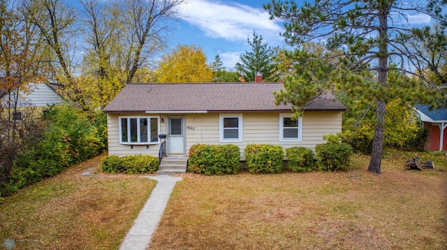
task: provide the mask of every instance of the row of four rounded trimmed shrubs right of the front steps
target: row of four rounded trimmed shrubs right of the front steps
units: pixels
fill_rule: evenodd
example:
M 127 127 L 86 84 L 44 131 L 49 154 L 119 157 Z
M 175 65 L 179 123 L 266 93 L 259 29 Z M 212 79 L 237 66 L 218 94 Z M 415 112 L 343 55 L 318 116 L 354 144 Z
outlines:
M 305 147 L 286 149 L 288 167 L 292 172 L 345 171 L 353 153 L 347 143 L 324 143 L 312 150 Z M 281 146 L 249 144 L 244 150 L 250 173 L 281 173 L 284 150 Z M 189 150 L 188 171 L 192 173 L 237 173 L 240 169 L 240 148 L 235 145 L 196 144 Z

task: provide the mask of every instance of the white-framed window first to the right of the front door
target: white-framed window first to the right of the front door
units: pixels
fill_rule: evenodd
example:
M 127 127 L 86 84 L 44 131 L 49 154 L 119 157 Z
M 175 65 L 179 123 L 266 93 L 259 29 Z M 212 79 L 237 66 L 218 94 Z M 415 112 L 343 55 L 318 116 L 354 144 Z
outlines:
M 242 115 L 221 115 L 219 121 L 220 141 L 242 141 Z

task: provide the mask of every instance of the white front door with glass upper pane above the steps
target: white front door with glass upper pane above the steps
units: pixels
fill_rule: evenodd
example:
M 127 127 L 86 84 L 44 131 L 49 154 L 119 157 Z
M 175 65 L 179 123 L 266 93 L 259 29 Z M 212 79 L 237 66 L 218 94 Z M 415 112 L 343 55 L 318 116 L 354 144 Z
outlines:
M 184 126 L 182 116 L 168 117 L 168 154 L 184 155 Z

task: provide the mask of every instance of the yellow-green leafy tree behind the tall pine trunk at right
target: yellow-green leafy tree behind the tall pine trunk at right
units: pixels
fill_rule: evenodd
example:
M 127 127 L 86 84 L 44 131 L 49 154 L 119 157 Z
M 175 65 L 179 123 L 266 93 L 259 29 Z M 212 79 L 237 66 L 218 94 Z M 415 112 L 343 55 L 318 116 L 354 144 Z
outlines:
M 404 84 L 406 81 L 414 82 L 413 79 L 400 72 L 390 72 L 388 74 L 390 83 L 388 91 L 396 92 L 399 91 L 396 88 L 411 86 L 411 84 Z M 412 87 L 411 90 L 416 91 L 416 88 Z M 342 95 L 340 99 L 346 104 L 347 110 L 343 114 L 342 139 L 350 143 L 356 151 L 371 153 L 376 116 L 374 96 L 369 95 L 370 90 L 367 88 L 365 88 L 364 94 L 360 90 L 356 91 L 357 95 L 350 95 L 347 90 L 343 91 L 346 95 Z M 383 143 L 386 146 L 402 148 L 416 139 L 420 130 L 420 124 L 413 111 L 414 99 L 418 99 L 417 94 L 406 93 L 405 95 L 408 95 L 409 100 L 404 100 L 401 97 L 386 100 L 385 129 L 383 131 Z

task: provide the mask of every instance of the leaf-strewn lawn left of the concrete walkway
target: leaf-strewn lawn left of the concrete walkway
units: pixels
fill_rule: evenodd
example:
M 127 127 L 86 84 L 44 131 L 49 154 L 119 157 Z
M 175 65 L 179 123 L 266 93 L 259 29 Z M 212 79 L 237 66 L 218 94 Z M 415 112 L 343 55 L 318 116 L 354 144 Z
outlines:
M 82 177 L 100 157 L 20 190 L 0 204 L 0 240 L 17 249 L 117 249 L 156 182 Z

